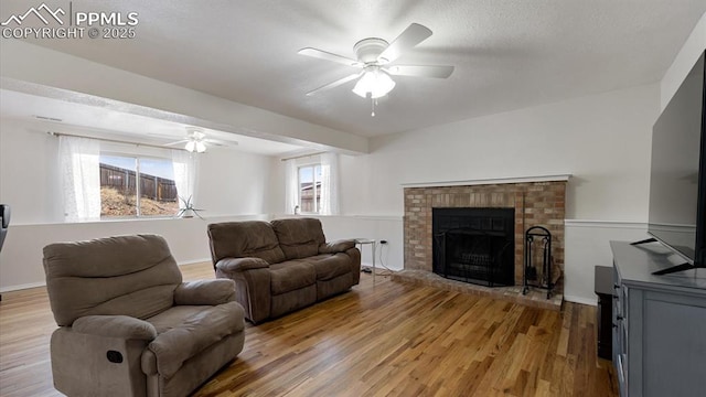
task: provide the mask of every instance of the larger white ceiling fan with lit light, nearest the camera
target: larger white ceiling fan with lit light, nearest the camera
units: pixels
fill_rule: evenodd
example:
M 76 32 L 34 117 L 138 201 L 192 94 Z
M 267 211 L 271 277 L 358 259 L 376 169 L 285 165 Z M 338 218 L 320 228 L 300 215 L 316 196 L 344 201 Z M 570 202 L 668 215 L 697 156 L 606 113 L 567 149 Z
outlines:
M 301 55 L 362 69 L 313 89 L 307 95 L 314 95 L 357 79 L 353 93 L 363 98 L 376 99 L 387 95 L 395 87 L 395 82 L 391 76 L 447 78 L 453 73 L 453 66 L 391 65 L 405 51 L 427 40 L 431 34 L 429 28 L 413 23 L 389 44 L 378 37 L 363 39 L 353 46 L 356 60 L 312 47 L 299 50 Z M 375 116 L 374 111 L 373 116 Z

